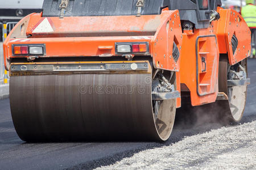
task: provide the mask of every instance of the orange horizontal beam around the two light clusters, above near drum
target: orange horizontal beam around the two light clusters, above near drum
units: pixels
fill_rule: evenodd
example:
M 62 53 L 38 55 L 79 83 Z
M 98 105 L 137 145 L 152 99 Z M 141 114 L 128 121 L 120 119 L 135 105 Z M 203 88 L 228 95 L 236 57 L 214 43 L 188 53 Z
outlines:
M 147 39 L 145 39 L 147 38 Z M 15 40 L 15 39 L 10 39 Z M 27 40 L 27 41 L 26 41 Z M 115 42 L 148 42 L 150 37 L 51 37 L 19 39 L 7 44 L 7 55 L 13 56 L 13 44 L 46 44 L 46 55 L 40 57 L 89 57 L 89 56 L 120 56 L 115 54 Z M 113 48 L 110 48 L 113 47 Z M 146 54 L 142 54 L 146 55 Z M 148 54 L 147 54 L 148 55 Z

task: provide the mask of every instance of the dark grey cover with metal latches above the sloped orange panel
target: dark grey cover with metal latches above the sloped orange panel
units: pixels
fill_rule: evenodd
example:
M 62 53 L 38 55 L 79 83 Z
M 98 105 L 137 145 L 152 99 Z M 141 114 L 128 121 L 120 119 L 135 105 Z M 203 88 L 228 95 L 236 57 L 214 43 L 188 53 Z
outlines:
M 44 0 L 43 17 L 60 16 L 61 0 Z M 112 16 L 137 15 L 137 0 L 69 0 L 64 16 Z M 166 0 L 147 0 L 142 7 L 142 15 L 157 15 Z

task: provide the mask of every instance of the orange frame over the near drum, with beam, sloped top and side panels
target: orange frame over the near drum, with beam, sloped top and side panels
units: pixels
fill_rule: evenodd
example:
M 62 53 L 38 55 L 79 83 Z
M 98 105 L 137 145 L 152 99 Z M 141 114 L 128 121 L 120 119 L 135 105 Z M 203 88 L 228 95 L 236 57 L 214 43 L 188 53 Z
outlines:
M 15 56 L 12 49 L 14 44 L 45 44 L 46 54 L 39 57 L 99 56 L 112 57 L 111 61 L 114 61 L 113 57 L 121 56 L 115 52 L 116 42 L 145 42 L 149 45 L 149 52 L 140 56 L 151 57 L 155 69 L 179 71 L 180 59 L 175 62 L 171 56 L 174 41 L 181 53 L 182 31 L 178 10 L 164 9 L 161 15 L 141 17 L 82 16 L 60 19 L 43 18 L 42 13 L 31 14 L 14 29 L 19 29 L 25 22 L 28 22 L 28 37 L 15 37 L 12 31 L 3 44 L 6 61 L 10 58 L 28 57 Z M 5 65 L 9 69 L 7 62 Z M 179 73 L 176 76 L 177 90 L 180 91 Z M 177 107 L 180 105 L 178 99 Z

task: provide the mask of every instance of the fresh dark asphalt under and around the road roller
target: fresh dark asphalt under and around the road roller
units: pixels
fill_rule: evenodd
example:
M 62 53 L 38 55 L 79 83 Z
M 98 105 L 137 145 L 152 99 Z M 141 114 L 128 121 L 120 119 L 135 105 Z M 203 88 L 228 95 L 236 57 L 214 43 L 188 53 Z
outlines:
M 256 59 L 249 59 L 251 85 L 242 124 L 254 126 L 256 120 Z M 234 128 L 250 125 L 235 125 Z M 228 127 L 232 128 L 232 127 Z M 255 128 L 255 127 L 253 127 Z M 24 143 L 15 133 L 11 121 L 9 100 L 0 101 L 0 168 L 1 169 L 91 169 L 114 164 L 123 158 L 151 148 L 175 146 L 188 139 L 207 135 L 210 130 L 221 133 L 220 125 L 205 124 L 191 129 L 175 125 L 171 138 L 164 143 L 154 142 L 92 142 L 92 143 Z M 220 130 L 220 131 L 219 131 Z M 205 138 L 205 137 L 202 137 Z M 178 145 L 177 144 L 177 145 Z M 175 149 L 175 148 L 174 148 Z M 200 147 L 198 148 L 200 149 Z M 253 156 L 253 155 L 252 155 Z M 202 160 L 204 158 L 201 158 Z M 238 158 L 239 159 L 239 158 Z M 205 163 L 205 162 L 204 162 Z M 184 163 L 185 164 L 185 163 Z M 136 164 L 135 164 L 136 165 Z M 180 168 L 184 167 L 182 163 Z M 114 167 L 112 167 L 114 168 Z M 117 168 L 117 167 L 115 167 Z M 120 167 L 119 167 L 120 168 Z M 152 167 L 151 167 L 152 168 Z M 166 168 L 166 167 L 165 167 Z M 178 168 L 178 167 L 176 167 Z M 201 166 L 203 167 L 203 165 Z M 207 168 L 207 167 L 206 167 Z M 209 168 L 209 167 L 208 167 Z M 223 168 L 223 167 L 222 167 Z M 110 167 L 111 169 L 111 167 Z

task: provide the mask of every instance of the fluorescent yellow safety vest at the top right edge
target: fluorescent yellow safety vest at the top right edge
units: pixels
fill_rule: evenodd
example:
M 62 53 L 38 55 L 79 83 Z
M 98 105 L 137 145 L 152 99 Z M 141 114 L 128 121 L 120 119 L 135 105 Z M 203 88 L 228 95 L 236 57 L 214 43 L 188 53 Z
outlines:
M 256 27 L 256 6 L 255 5 L 246 5 L 242 7 L 241 14 L 248 27 Z

